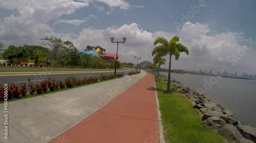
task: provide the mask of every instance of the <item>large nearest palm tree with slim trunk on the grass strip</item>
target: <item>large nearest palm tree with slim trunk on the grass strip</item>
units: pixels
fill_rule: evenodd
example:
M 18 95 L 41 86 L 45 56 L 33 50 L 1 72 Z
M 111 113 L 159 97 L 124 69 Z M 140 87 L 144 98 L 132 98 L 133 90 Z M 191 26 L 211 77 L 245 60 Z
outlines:
M 187 55 L 189 53 L 189 50 L 187 47 L 182 45 L 181 43 L 178 43 L 180 38 L 178 36 L 173 37 L 169 42 L 163 37 L 158 37 L 154 41 L 154 45 L 161 44 L 159 46 L 156 46 L 152 50 L 152 55 L 161 53 L 163 56 L 169 55 L 169 69 L 168 69 L 168 80 L 167 80 L 167 92 L 170 91 L 170 65 L 172 60 L 172 55 L 175 56 L 175 60 L 179 60 L 180 53 L 185 52 Z

